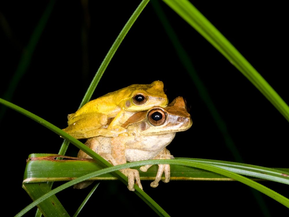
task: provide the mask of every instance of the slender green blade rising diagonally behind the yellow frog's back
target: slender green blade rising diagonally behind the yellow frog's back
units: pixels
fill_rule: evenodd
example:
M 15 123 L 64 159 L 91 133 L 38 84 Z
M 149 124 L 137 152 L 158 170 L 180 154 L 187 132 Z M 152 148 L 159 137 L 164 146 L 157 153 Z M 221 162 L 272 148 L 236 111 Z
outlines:
M 138 5 L 134 13 L 131 15 L 121 32 L 118 34 L 117 38 L 115 39 L 114 43 L 112 44 L 111 48 L 109 49 L 108 53 L 106 54 L 104 60 L 102 61 L 99 69 L 97 70 L 94 78 L 92 79 L 85 95 L 84 98 L 82 99 L 79 108 L 84 106 L 86 104 L 91 96 L 92 93 L 95 91 L 95 88 L 97 87 L 97 84 L 99 83 L 99 80 L 101 79 L 105 69 L 107 68 L 108 64 L 110 63 L 110 60 L 114 56 L 116 50 L 118 49 L 119 45 L 123 41 L 124 37 L 127 35 L 128 31 L 130 30 L 131 26 L 134 24 L 144 7 L 149 3 L 149 0 L 142 0 L 142 2 Z M 65 155 L 65 152 L 68 148 L 69 141 L 64 140 L 58 154 L 60 155 Z

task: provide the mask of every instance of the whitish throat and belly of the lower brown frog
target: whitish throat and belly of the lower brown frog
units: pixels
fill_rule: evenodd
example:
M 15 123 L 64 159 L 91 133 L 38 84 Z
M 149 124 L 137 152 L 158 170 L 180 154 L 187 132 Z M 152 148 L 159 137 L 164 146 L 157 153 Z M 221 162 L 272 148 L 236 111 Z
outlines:
M 134 148 L 126 144 L 125 159 L 129 162 L 153 159 L 158 153 L 171 143 L 176 133 L 167 133 L 161 135 L 145 136 L 141 138 Z

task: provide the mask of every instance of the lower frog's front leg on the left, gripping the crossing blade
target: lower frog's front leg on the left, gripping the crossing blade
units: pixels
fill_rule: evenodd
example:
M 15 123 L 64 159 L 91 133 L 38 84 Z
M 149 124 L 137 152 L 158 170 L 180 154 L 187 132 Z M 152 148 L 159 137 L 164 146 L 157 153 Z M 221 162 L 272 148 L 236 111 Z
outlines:
M 125 160 L 125 141 L 127 137 L 126 136 L 120 136 L 120 137 L 114 137 L 111 140 L 111 155 L 116 160 L 116 163 L 124 164 L 126 163 Z M 140 183 L 140 174 L 138 170 L 126 168 L 120 170 L 123 174 L 125 174 L 128 177 L 128 186 L 127 188 L 130 191 L 134 191 L 134 180 L 136 180 L 136 184 L 140 189 L 142 189 L 142 185 Z

